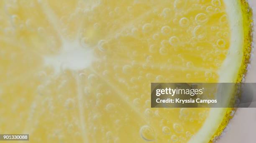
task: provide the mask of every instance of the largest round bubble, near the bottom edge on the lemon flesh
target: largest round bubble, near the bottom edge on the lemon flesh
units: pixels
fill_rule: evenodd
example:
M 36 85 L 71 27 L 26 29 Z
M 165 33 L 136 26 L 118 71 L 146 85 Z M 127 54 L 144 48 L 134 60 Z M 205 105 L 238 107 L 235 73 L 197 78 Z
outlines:
M 154 129 L 150 126 L 144 125 L 140 128 L 140 135 L 145 141 L 154 141 L 155 133 Z

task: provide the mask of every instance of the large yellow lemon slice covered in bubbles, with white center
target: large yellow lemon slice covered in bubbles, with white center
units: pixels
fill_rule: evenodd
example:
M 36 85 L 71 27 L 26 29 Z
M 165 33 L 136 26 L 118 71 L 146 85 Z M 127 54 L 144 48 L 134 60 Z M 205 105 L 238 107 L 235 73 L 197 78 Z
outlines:
M 251 22 L 245 0 L 1 0 L 0 132 L 215 141 L 232 108 L 151 108 L 150 85 L 240 82 Z

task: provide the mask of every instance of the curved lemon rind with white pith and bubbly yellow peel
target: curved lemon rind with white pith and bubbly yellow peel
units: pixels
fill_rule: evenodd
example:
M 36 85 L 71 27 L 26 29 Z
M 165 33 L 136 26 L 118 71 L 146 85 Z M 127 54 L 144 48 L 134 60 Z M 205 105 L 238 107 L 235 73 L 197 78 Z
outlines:
M 224 3 L 227 5 L 230 27 L 233 28 L 230 42 L 232 50 L 230 50 L 229 55 L 219 70 L 219 82 L 239 83 L 243 81 L 251 57 L 252 10 L 246 0 L 224 0 Z M 232 95 L 234 90 L 234 87 L 231 87 L 230 90 L 226 91 L 226 94 Z M 228 96 L 226 101 L 229 101 L 230 98 Z M 190 139 L 189 143 L 212 143 L 216 141 L 233 117 L 235 110 L 236 108 L 211 108 L 204 125 Z

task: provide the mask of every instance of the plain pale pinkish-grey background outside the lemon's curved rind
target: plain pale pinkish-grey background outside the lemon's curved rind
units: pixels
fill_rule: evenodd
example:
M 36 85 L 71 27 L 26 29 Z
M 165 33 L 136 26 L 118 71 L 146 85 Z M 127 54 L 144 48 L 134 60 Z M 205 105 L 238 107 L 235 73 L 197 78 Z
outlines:
M 256 0 L 249 0 L 254 10 L 254 20 L 256 20 Z M 256 26 L 254 26 L 254 44 L 256 47 Z M 256 50 L 253 52 L 254 58 L 251 61 L 246 82 L 256 82 Z M 217 143 L 256 143 L 256 108 L 238 108 L 228 128 Z

